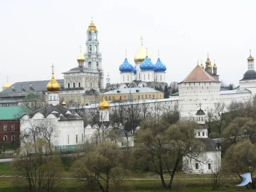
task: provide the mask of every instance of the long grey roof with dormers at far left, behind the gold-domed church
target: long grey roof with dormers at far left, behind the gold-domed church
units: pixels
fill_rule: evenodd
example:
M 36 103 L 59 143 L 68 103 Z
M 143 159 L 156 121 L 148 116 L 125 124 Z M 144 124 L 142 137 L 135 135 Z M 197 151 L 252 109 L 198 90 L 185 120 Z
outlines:
M 58 83 L 61 83 L 64 86 L 64 79 L 57 79 Z M 0 94 L 9 94 L 9 93 L 26 93 L 26 92 L 40 92 L 40 91 L 47 91 L 46 86 L 49 80 L 44 81 L 23 81 L 23 82 L 16 82 L 12 84 L 14 89 L 12 90 L 11 86 L 7 89 L 0 92 Z M 32 83 L 32 88 L 30 84 Z M 23 89 L 21 89 L 21 85 L 23 85 Z M 63 89 L 63 87 L 62 87 Z

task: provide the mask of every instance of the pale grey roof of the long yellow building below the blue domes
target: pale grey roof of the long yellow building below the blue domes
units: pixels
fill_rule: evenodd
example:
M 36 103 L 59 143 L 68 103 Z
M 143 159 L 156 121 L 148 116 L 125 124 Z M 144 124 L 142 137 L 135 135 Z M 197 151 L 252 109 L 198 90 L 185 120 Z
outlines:
M 138 92 L 136 91 L 138 90 Z M 119 92 L 117 92 L 119 91 Z M 104 95 L 110 94 L 135 94 L 135 93 L 162 93 L 150 87 L 132 87 L 132 88 L 120 88 L 105 92 Z M 103 95 L 103 94 L 101 94 Z

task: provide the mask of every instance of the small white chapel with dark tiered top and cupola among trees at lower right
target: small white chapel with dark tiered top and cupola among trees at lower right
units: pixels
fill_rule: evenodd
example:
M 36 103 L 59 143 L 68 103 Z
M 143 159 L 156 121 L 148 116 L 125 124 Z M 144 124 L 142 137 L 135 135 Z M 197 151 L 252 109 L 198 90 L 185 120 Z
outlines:
M 205 124 L 206 114 L 200 109 L 196 113 L 197 129 L 194 130 L 195 138 L 199 140 L 201 153 L 198 158 L 192 159 L 183 157 L 183 170 L 188 174 L 212 174 L 219 171 L 221 167 L 221 149 L 210 138 L 208 138 L 208 128 Z

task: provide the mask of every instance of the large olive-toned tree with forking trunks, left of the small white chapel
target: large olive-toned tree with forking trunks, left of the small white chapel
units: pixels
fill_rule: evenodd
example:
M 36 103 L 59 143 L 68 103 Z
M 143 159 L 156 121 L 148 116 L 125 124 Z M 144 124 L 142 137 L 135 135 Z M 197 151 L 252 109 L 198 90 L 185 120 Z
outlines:
M 178 122 L 167 127 L 162 123 L 161 117 L 145 119 L 142 122 L 137 136 L 140 142 L 147 147 L 144 155 L 153 164 L 153 171 L 160 176 L 163 187 L 172 188 L 174 175 L 183 156 L 192 159 L 199 157 L 199 150 L 194 139 L 195 127 L 196 123 L 193 122 Z M 171 177 L 168 184 L 164 180 L 164 172 Z

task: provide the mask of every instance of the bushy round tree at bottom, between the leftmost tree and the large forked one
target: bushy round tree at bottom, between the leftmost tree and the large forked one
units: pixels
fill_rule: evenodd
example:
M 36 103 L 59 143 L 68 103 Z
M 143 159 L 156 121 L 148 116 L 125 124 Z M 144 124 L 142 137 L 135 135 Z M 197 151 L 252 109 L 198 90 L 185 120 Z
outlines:
M 127 171 L 122 167 L 122 159 L 122 151 L 117 145 L 101 142 L 75 161 L 73 176 L 92 191 L 108 192 L 110 185 L 119 185 L 126 179 Z

